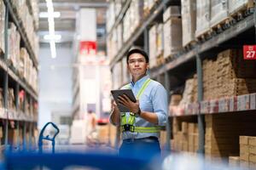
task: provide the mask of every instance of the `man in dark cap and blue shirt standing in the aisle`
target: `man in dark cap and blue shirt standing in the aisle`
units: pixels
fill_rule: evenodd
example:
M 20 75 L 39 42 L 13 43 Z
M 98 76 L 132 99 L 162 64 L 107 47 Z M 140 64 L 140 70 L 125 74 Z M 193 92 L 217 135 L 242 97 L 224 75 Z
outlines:
M 160 127 L 165 126 L 167 121 L 166 89 L 148 77 L 148 54 L 143 50 L 131 49 L 126 63 L 132 81 L 123 89 L 131 88 L 137 102 L 132 102 L 125 95 L 119 96 L 119 104 L 125 105 L 131 112 L 120 113 L 114 103 L 110 122 L 119 126 L 122 132 L 120 156 L 151 159 L 160 156 Z

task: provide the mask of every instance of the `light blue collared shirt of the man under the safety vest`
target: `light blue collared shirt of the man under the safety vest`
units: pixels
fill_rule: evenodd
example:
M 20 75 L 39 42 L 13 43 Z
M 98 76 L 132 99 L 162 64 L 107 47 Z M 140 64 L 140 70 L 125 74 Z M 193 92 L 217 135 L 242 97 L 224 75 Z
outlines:
M 135 96 L 142 88 L 143 83 L 149 78 L 145 76 L 138 80 L 137 82 L 130 82 L 130 87 Z M 123 89 L 126 86 L 123 87 Z M 152 80 L 149 82 L 148 87 L 145 88 L 143 94 L 139 99 L 141 111 L 154 112 L 158 117 L 157 126 L 166 126 L 168 103 L 167 103 L 167 92 L 166 89 L 160 84 Z M 125 113 L 126 120 L 128 120 L 130 112 Z M 135 120 L 135 126 L 137 127 L 154 127 L 155 124 L 144 120 L 143 118 L 137 116 Z M 160 133 L 131 133 L 124 132 L 122 135 L 123 139 L 141 139 L 149 136 L 160 137 Z

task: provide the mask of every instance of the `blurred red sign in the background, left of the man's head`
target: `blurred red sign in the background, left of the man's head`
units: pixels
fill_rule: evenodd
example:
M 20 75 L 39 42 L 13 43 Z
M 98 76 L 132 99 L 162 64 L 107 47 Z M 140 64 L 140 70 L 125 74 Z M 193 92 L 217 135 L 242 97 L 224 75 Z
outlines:
M 81 41 L 80 42 L 80 54 L 95 55 L 96 54 L 96 42 Z

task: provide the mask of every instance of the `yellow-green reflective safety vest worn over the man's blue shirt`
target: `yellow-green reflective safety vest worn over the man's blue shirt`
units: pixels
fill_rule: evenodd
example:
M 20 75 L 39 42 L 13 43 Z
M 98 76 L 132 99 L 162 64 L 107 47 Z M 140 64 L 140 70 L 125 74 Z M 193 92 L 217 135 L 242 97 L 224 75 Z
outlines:
M 137 93 L 137 99 L 140 99 L 145 89 L 148 87 L 149 82 L 151 82 L 151 79 L 148 78 L 144 83 L 143 87 L 139 90 Z M 125 88 L 130 88 L 130 84 L 127 84 Z M 122 132 L 130 131 L 132 133 L 159 133 L 160 132 L 160 126 L 154 126 L 154 127 L 136 127 L 135 126 L 135 114 L 130 112 L 130 116 L 128 121 L 126 120 L 125 112 L 121 112 L 121 127 L 120 130 Z

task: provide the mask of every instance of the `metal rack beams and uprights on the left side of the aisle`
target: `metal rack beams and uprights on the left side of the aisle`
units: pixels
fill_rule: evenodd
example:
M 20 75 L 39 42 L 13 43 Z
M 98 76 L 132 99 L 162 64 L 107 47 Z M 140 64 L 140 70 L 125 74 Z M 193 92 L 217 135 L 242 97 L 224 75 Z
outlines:
M 23 42 L 29 56 L 32 59 L 33 65 L 37 68 L 38 70 L 38 60 L 35 57 L 34 52 L 32 51 L 32 46 L 30 42 L 28 41 L 27 35 L 24 32 L 24 25 L 23 23 L 18 19 L 17 14 L 14 12 L 14 8 L 11 6 L 11 3 L 9 0 L 3 0 L 6 6 L 6 15 L 5 15 L 5 29 L 4 29 L 4 41 L 5 41 L 5 53 L 4 53 L 4 58 L 0 59 L 0 69 L 3 71 L 3 104 L 4 108 L 0 109 L 0 118 L 5 120 L 3 124 L 3 131 L 4 131 L 4 136 L 3 136 L 3 141 L 4 141 L 4 146 L 1 147 L 2 149 L 9 149 L 9 139 L 8 139 L 8 134 L 9 134 L 9 121 L 15 121 L 16 126 L 15 128 L 18 130 L 18 136 L 20 136 L 20 129 L 23 131 L 23 147 L 20 145 L 20 138 L 18 137 L 18 144 L 16 146 L 17 150 L 20 150 L 21 148 L 26 149 L 26 143 L 31 144 L 32 142 L 32 130 L 37 128 L 37 122 L 36 120 L 37 116 L 36 114 L 38 113 L 32 113 L 32 115 L 25 114 L 26 107 L 25 107 L 25 102 L 26 99 L 29 99 L 30 105 L 33 105 L 34 101 L 38 101 L 38 93 L 32 89 L 30 85 L 26 81 L 24 81 L 22 78 L 18 76 L 18 74 L 15 73 L 13 68 L 9 65 L 9 62 L 7 60 L 8 57 L 8 23 L 9 23 L 9 18 L 11 18 L 15 26 L 17 27 L 17 30 L 20 33 L 21 37 L 21 42 Z M 8 105 L 8 89 L 9 83 L 15 83 L 14 90 L 15 90 L 15 111 L 10 111 L 9 110 L 9 105 Z M 21 104 L 23 105 L 24 111 L 19 110 L 19 92 L 20 90 L 23 89 L 25 90 L 25 97 L 24 97 L 24 103 Z M 26 141 L 26 133 L 29 133 L 29 141 Z

